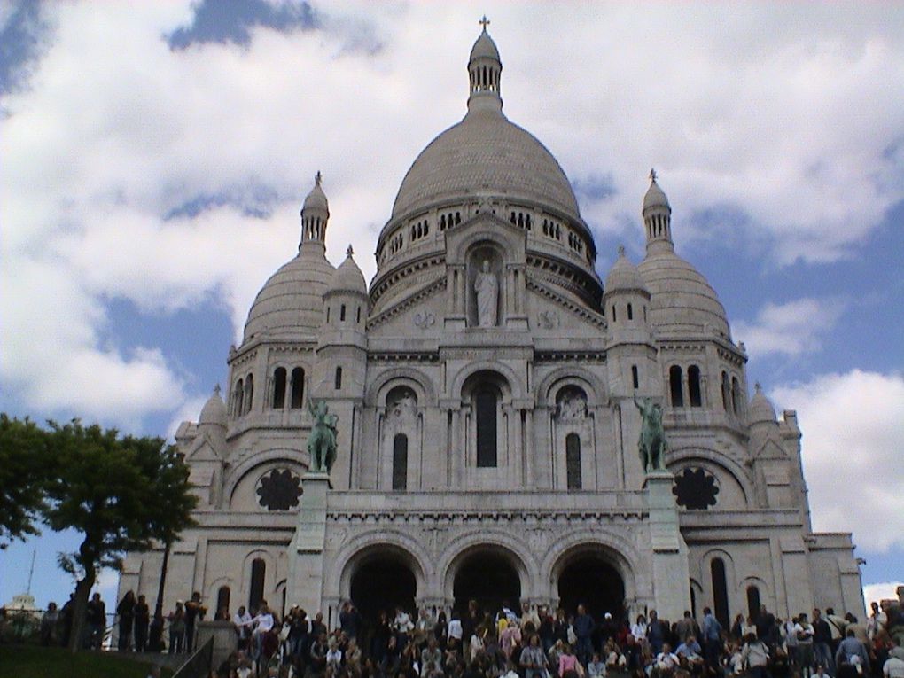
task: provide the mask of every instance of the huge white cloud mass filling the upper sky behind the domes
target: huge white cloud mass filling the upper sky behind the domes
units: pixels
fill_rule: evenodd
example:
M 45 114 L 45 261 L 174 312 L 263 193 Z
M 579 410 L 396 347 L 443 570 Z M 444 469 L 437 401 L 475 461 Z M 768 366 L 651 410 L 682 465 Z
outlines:
M 904 197 L 889 150 L 904 135 L 904 91 L 888 85 L 904 80 L 897 8 L 339 4 L 324 31 L 258 28 L 248 47 L 179 52 L 161 36 L 189 21 L 187 1 L 42 11 L 52 45 L 30 88 L 5 98 L 0 135 L 0 379 L 28 407 L 122 423 L 206 395 L 154 346 L 105 345 L 103 300 L 165 312 L 218 295 L 240 335 L 256 291 L 295 253 L 317 169 L 329 255 L 351 242 L 370 278 L 401 177 L 465 111 L 484 11 L 509 117 L 572 179 L 611 176 L 616 195 L 585 209 L 598 232 L 638 221 L 651 164 L 676 238 L 722 237 L 728 226 L 692 232 L 687 219 L 727 205 L 779 262 L 843 256 Z M 383 48 L 348 51 L 362 34 Z M 268 217 L 224 206 L 163 219 L 250 185 L 273 191 Z M 794 345 L 781 310 L 751 325 L 751 347 Z

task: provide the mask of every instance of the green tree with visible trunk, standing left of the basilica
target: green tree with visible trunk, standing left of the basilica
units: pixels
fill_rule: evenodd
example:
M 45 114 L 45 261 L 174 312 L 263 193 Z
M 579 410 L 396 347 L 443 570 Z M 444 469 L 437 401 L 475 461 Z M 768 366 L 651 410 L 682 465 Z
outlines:
M 51 422 L 52 477 L 44 518 L 54 530 L 84 535 L 79 551 L 61 554 L 77 579 L 70 648 L 80 646 L 88 595 L 100 568 L 121 569 L 126 551 L 171 543 L 193 524 L 196 498 L 188 467 L 163 438 L 120 438 L 116 429 Z

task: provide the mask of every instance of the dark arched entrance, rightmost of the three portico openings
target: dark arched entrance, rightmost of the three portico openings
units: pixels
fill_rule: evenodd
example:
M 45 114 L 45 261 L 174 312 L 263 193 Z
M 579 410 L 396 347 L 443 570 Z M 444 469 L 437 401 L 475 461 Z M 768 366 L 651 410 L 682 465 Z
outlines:
M 561 570 L 559 604 L 569 614 L 583 605 L 596 619 L 607 612 L 621 619 L 625 614 L 625 581 L 603 554 L 581 553 Z

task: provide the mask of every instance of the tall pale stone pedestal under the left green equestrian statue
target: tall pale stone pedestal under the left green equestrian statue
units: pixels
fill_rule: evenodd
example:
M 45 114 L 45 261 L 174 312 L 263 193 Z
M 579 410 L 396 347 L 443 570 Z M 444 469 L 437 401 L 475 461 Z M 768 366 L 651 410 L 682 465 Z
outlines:
M 295 535 L 288 547 L 286 605 L 300 605 L 313 618 L 324 595 L 327 473 L 309 471 L 301 479 L 303 494 Z

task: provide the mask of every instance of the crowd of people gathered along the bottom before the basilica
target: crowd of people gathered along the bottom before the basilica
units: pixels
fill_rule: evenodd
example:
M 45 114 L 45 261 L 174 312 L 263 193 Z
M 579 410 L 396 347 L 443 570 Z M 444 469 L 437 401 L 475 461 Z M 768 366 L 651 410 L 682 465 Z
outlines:
M 177 601 L 152 618 L 144 596 L 132 591 L 117 606 L 120 650 L 160 650 L 148 643 L 155 621 L 168 622 L 168 652 L 190 652 L 199 620 L 207 612 L 201 594 Z M 95 594 L 86 613 L 86 647 L 99 647 L 106 607 Z M 365 620 L 351 602 L 327 626 L 322 613 L 309 617 L 292 607 L 283 618 L 266 601 L 256 609 L 223 608 L 216 619 L 231 621 L 238 651 L 212 675 L 218 678 L 904 678 L 904 614 L 901 607 L 871 604 L 861 621 L 833 608 L 780 619 L 761 607 L 723 626 L 709 607 L 698 620 L 690 611 L 676 621 L 650 610 L 633 620 L 605 613 L 594 618 L 579 605 L 574 614 L 523 604 L 485 611 L 472 600 L 460 613 L 420 609 L 412 616 L 397 607 Z M 71 601 L 48 606 L 42 642 L 68 639 Z

